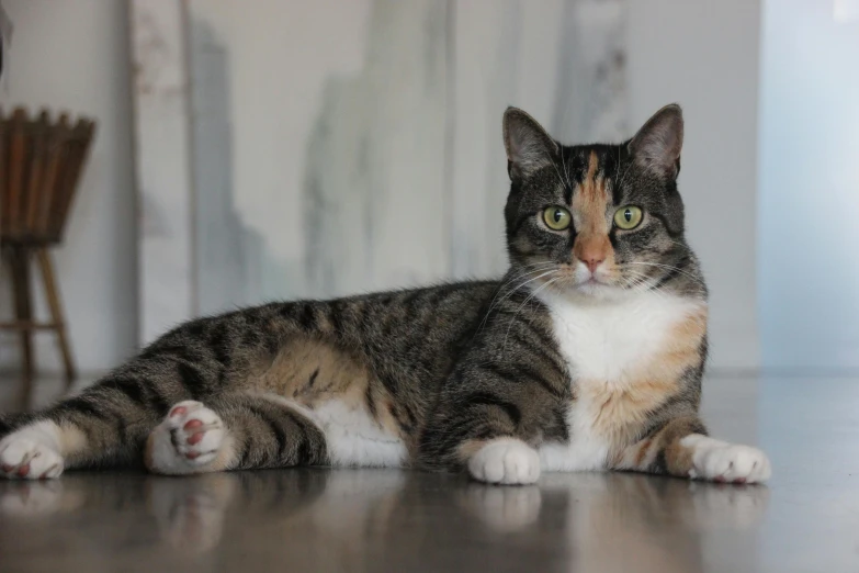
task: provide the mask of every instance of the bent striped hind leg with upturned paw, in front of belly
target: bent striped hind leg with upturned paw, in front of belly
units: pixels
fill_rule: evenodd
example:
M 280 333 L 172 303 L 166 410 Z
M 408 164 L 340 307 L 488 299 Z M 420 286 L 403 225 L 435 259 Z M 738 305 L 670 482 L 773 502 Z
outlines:
M 328 463 L 323 431 L 283 398 L 231 393 L 173 405 L 146 442 L 149 471 L 170 475 Z

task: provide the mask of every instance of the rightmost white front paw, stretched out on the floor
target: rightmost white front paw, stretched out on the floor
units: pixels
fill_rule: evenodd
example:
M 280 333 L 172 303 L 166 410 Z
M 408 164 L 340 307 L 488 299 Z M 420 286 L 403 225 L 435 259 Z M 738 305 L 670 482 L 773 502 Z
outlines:
M 767 454 L 750 446 L 737 446 L 700 434 L 687 436 L 680 443 L 692 449 L 689 476 L 733 483 L 760 483 L 772 474 Z

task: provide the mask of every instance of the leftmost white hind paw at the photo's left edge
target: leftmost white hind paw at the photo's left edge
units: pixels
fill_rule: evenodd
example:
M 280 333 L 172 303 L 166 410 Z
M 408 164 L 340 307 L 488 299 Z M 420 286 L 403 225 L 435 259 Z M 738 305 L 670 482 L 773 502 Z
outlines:
M 44 480 L 63 473 L 63 456 L 53 422 L 37 422 L 0 440 L 0 476 Z

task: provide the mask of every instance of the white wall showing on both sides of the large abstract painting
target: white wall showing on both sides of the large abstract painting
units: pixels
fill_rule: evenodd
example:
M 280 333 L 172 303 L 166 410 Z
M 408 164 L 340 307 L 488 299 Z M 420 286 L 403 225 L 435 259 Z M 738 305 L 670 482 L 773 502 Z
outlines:
M 809 0 L 812 1 L 812 0 Z M 712 289 L 716 368 L 757 364 L 755 311 L 758 0 L 629 0 L 632 124 L 680 102 L 689 236 Z M 57 252 L 72 344 L 101 370 L 135 345 L 136 263 L 125 2 L 3 0 L 15 23 L 0 103 L 66 106 L 99 134 Z M 0 286 L 4 289 L 4 286 Z M 8 291 L 0 292 L 3 310 Z M 10 360 L 14 340 L 0 347 Z M 56 364 L 53 341 L 38 348 Z

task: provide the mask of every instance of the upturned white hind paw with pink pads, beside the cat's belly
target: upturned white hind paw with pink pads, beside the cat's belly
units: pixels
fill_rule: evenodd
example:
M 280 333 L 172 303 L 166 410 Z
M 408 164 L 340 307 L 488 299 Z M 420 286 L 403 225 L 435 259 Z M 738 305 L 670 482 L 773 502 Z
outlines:
M 180 402 L 149 436 L 147 464 L 167 474 L 205 471 L 217 458 L 224 438 L 221 416 L 200 402 Z

